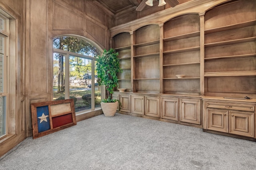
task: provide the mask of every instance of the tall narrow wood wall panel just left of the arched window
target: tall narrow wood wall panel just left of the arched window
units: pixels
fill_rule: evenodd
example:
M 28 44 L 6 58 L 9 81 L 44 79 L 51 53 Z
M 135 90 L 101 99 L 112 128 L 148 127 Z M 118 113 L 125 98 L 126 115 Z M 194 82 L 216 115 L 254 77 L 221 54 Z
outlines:
M 30 70 L 29 91 L 30 94 L 47 93 L 47 2 L 41 0 L 32 0 L 30 5 L 30 63 L 28 66 Z

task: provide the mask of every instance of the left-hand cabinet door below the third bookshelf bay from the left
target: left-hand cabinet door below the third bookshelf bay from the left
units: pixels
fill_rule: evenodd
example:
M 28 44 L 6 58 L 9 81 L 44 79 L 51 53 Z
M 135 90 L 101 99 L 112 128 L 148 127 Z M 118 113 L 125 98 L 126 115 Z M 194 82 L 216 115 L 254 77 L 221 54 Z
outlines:
M 162 98 L 161 118 L 178 121 L 178 99 Z

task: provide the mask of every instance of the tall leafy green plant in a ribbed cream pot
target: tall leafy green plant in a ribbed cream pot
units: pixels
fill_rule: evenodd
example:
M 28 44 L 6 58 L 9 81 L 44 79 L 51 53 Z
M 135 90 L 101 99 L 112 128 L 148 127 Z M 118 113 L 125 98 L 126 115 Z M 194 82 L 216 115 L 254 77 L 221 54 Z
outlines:
M 99 85 L 105 85 L 107 98 L 101 101 L 101 107 L 106 117 L 112 117 L 120 102 L 112 99 L 114 88 L 118 86 L 117 73 L 122 72 L 119 65 L 118 53 L 114 49 L 104 49 L 102 55 L 97 56 L 96 71 Z

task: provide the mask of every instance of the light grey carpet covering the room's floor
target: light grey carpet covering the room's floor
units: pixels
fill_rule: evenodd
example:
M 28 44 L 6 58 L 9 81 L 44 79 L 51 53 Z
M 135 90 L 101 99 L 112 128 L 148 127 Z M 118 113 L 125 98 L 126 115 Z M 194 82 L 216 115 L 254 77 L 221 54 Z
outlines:
M 2 170 L 256 170 L 256 142 L 116 113 L 28 137 Z

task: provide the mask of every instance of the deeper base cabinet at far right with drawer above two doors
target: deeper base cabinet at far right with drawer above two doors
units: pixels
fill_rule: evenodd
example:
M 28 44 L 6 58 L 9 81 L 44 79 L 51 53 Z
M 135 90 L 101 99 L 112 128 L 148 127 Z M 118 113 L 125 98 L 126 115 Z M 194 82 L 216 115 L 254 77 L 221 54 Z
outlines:
M 255 137 L 254 105 L 205 101 L 204 107 L 204 129 Z

